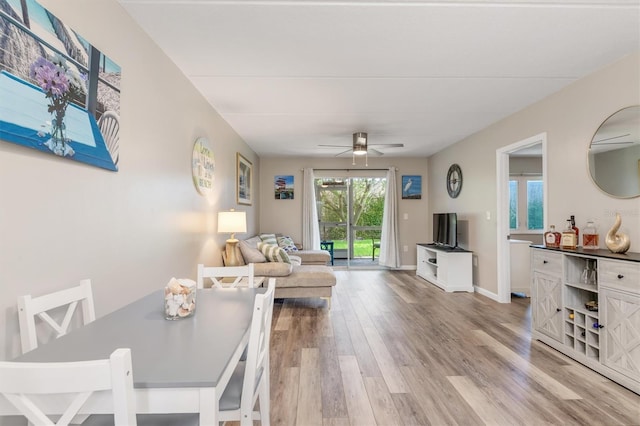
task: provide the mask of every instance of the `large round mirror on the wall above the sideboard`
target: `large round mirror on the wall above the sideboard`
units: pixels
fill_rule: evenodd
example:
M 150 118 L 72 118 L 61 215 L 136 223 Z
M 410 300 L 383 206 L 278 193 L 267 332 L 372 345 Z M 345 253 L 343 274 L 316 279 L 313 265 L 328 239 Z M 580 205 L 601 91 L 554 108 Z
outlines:
M 640 196 L 640 106 L 621 109 L 600 125 L 589 146 L 589 172 L 613 197 Z

